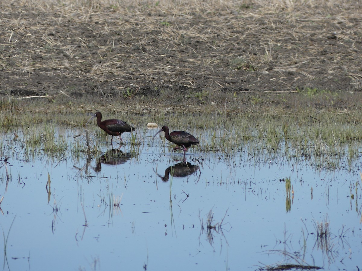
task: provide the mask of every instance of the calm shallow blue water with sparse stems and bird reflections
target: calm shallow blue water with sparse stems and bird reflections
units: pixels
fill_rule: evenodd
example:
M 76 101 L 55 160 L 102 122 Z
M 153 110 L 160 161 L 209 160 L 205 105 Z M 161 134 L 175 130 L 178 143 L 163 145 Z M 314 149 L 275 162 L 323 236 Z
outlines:
M 2 134 L 4 269 L 361 269 L 360 157 L 318 168 L 247 144 L 234 154 L 190 147 L 184 163 L 172 144 L 152 141 L 156 131 L 139 131 L 137 146 L 125 133 L 120 148 L 92 135 L 101 149 L 92 155 L 72 151 L 86 146 L 78 129 L 56 128 L 55 141 L 68 144 L 56 154 L 30 150 L 26 133 Z

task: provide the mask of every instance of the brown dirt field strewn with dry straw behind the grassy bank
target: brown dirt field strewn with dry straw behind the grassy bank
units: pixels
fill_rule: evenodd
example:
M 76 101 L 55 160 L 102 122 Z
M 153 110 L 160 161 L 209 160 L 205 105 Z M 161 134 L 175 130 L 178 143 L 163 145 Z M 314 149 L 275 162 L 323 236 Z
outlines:
M 3 97 L 361 90 L 357 2 L 7 2 L 0 6 Z

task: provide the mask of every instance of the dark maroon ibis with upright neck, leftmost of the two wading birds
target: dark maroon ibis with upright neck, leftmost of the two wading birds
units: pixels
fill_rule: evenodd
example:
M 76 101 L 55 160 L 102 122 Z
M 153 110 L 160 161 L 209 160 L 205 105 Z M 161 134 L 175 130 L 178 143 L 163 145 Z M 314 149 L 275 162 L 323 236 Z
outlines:
M 121 134 L 124 132 L 131 132 L 134 131 L 135 128 L 132 127 L 131 125 L 127 124 L 127 122 L 123 121 L 123 120 L 102 120 L 102 113 L 101 112 L 96 112 L 93 117 L 91 117 L 88 122 L 93 119 L 93 118 L 97 118 L 97 125 L 99 128 L 101 128 L 102 130 L 104 130 L 104 132 L 106 132 L 107 134 L 111 135 L 111 142 L 113 140 L 113 136 L 119 136 L 119 139 L 121 139 L 122 142 L 122 138 L 121 138 Z M 87 122 L 87 124 L 88 124 Z M 87 125 L 86 124 L 86 125 Z

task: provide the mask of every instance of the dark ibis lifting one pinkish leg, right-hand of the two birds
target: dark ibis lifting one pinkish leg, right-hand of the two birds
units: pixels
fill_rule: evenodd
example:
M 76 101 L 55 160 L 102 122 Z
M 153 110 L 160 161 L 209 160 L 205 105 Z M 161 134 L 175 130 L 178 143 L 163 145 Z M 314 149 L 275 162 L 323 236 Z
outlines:
M 192 134 L 189 134 L 187 132 L 184 131 L 173 131 L 171 132 L 171 134 L 168 134 L 170 132 L 170 130 L 168 129 L 168 127 L 165 125 L 161 128 L 161 130 L 159 130 L 155 136 L 153 136 L 153 139 L 157 136 L 158 133 L 161 132 L 165 132 L 165 138 L 168 141 L 171 141 L 173 143 L 175 143 L 178 146 L 183 147 L 174 147 L 172 149 L 172 151 L 174 150 L 183 150 L 184 151 L 184 155 L 185 152 L 187 151 L 187 148 L 190 147 L 191 145 L 198 145 L 199 141 L 197 138 L 195 138 Z

